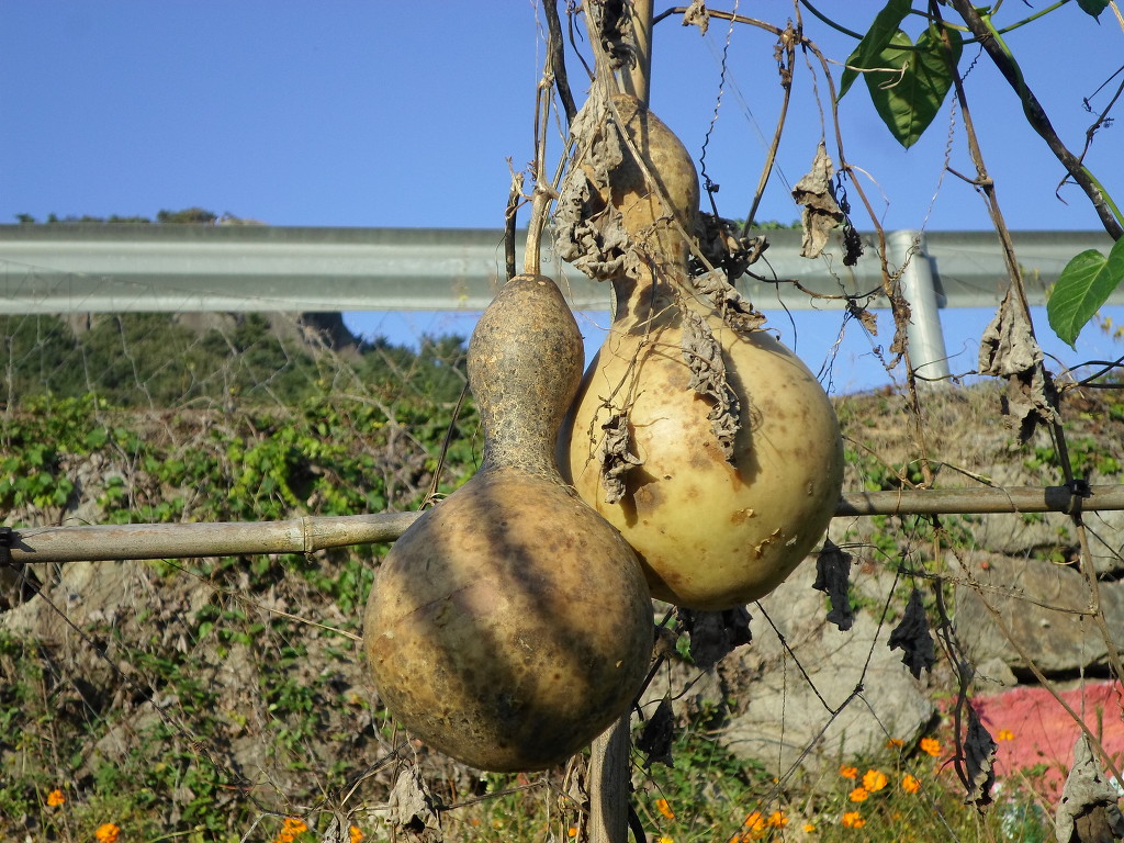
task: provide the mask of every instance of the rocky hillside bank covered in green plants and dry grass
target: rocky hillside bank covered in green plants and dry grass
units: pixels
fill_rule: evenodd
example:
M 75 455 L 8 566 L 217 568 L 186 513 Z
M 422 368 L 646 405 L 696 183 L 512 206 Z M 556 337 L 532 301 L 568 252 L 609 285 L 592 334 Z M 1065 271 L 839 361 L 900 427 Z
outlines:
M 117 326 L 121 330 L 127 320 Z M 246 332 L 256 329 L 253 320 L 244 325 Z M 105 330 L 91 328 L 78 351 L 72 341 L 65 346 L 65 337 L 60 347 L 92 360 L 106 336 L 120 336 Z M 49 346 L 38 336 L 36 348 Z M 164 347 L 174 342 L 165 336 Z M 200 354 L 209 347 L 206 337 L 185 342 Z M 263 357 L 265 350 L 284 350 L 268 332 L 247 346 L 254 347 L 263 350 Z M 174 408 L 152 405 L 165 395 L 164 386 L 156 388 L 165 375 L 172 384 L 191 371 L 183 355 L 142 377 L 101 381 L 97 397 L 60 397 L 63 384 L 49 390 L 54 396 L 44 389 L 20 392 L 0 416 L 4 524 L 409 510 L 453 490 L 474 471 L 480 443 L 471 399 L 457 409 L 459 341 L 434 342 L 420 354 L 387 347 L 351 359 L 330 350 L 284 353 L 299 373 L 296 386 L 282 387 L 274 378 L 271 392 L 232 393 L 199 377 L 199 400 Z M 250 359 L 245 377 L 256 377 L 253 354 L 244 350 L 242 356 Z M 135 357 L 152 362 L 147 353 Z M 237 370 L 217 353 L 212 360 L 218 373 Z M 111 370 L 99 366 L 85 371 L 102 371 L 108 379 Z M 196 372 L 206 369 L 194 366 Z M 148 393 L 129 398 L 129 384 L 138 383 L 147 384 Z M 284 395 L 291 400 L 277 400 Z M 849 441 L 845 488 L 894 489 L 919 479 L 917 436 L 904 424 L 908 414 L 899 396 L 852 396 L 836 406 Z M 931 453 L 943 461 L 941 483 L 969 486 L 981 474 L 1003 482 L 1057 481 L 1046 442 L 1023 450 L 1013 445 L 996 415 L 995 389 L 934 392 L 926 406 L 922 422 Z M 1075 393 L 1067 413 L 1082 468 L 1097 481 L 1118 482 L 1124 404 Z M 942 572 L 942 547 L 985 549 L 973 533 L 986 532 L 986 525 L 972 518 L 944 519 L 940 528 L 934 528 L 936 519 L 889 517 L 836 527 L 836 538 L 859 564 L 853 608 L 876 613 L 879 624 L 900 615 L 904 598 L 899 592 L 889 601 L 876 598 L 863 581 L 897 575 L 904 560 Z M 1035 553 L 1054 554 L 1062 563 L 1073 552 L 1072 540 L 1061 532 L 1036 541 Z M 384 550 L 35 565 L 33 581 L 0 581 L 0 839 L 90 840 L 108 823 L 127 840 L 234 841 L 254 828 L 245 839 L 284 840 L 289 833 L 291 841 L 301 834 L 312 840 L 314 831 L 326 832 L 336 822 L 354 827 L 353 840 L 356 834 L 375 840 L 390 834 L 389 818 L 402 834 L 413 830 L 422 840 L 435 840 L 425 819 L 404 819 L 390 807 L 391 787 L 409 762 L 420 764 L 432 798 L 446 808 L 448 840 L 578 834 L 584 797 L 577 768 L 569 777 L 562 770 L 534 779 L 481 776 L 405 743 L 388 719 L 355 637 Z M 1120 578 L 1113 571 L 1106 582 Z M 951 584 L 939 588 L 952 596 Z M 807 626 L 826 624 L 831 602 L 821 597 L 818 604 L 824 614 Z M 751 613 L 756 635 L 761 616 L 753 607 Z M 854 763 L 892 772 L 897 764 L 904 782 L 906 771 L 924 778 L 922 764 L 928 763 L 924 769 L 932 785 L 925 801 L 898 801 L 909 796 L 904 794 L 882 808 L 877 799 L 851 804 L 847 792 L 855 782 L 849 779 L 827 792 L 799 777 L 778 785 L 765 763 L 738 759 L 718 740 L 726 719 L 752 699 L 752 671 L 703 670 L 698 642 L 688 633 L 698 618 L 680 614 L 664 622 L 664 658 L 679 671 L 678 679 L 668 674 L 678 682 L 672 706 L 678 731 L 664 750 L 677 760 L 670 768 L 647 768 L 642 755 L 636 758 L 637 810 L 650 833 L 676 841 L 726 841 L 743 832 L 745 840 L 782 832 L 799 839 L 810 834 L 799 831 L 807 826 L 817 828 L 817 839 L 844 840 L 856 823 L 869 822 L 868 831 L 880 823 L 881 837 L 897 840 L 903 827 L 924 826 L 933 809 L 948 812 L 950 831 L 919 840 L 984 839 L 1000 823 L 1017 826 L 1018 836 L 1007 839 L 1043 840 L 1049 832 L 1049 812 L 1033 799 L 1018 803 L 1023 813 L 1015 819 L 1008 812 L 981 821 L 962 807 L 951 776 L 940 779 L 928 763 L 933 759 L 925 747 L 933 744 L 924 741 L 948 741 L 941 723 L 916 736 L 924 740 L 894 750 L 897 761 L 840 759 L 844 768 Z M 752 652 L 753 645 L 745 650 Z M 717 697 L 685 694 L 705 676 L 724 683 Z M 934 698 L 954 692 L 946 663 L 933 677 L 927 692 Z M 645 710 L 651 715 L 653 709 Z M 640 732 L 636 736 L 641 740 Z M 645 754 L 652 755 L 653 738 L 644 740 Z M 298 817 L 308 831 L 299 830 Z

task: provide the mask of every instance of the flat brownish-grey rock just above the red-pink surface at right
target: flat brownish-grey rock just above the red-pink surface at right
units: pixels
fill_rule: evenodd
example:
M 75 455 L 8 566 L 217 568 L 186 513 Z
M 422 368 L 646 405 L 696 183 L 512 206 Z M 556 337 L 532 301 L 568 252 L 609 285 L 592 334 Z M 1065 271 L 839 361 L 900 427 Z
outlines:
M 1107 665 L 1104 636 L 1088 614 L 1093 605 L 1089 582 L 1079 571 L 1041 559 L 995 553 L 977 552 L 961 560 L 964 579 L 970 575 L 979 584 L 962 581 L 955 590 L 954 626 L 973 664 L 1000 660 L 1022 678 L 1032 676 L 1027 659 L 1051 678 Z M 1098 582 L 1097 590 L 1105 626 L 1120 649 L 1124 582 Z

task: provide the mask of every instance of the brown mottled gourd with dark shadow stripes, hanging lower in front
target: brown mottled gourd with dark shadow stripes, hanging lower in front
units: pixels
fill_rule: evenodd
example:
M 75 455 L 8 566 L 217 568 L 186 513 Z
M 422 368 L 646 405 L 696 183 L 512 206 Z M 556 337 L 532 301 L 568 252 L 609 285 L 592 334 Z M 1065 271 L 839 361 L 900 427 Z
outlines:
M 647 670 L 652 604 L 635 554 L 554 462 L 583 362 L 551 279 L 500 290 L 469 345 L 480 470 L 395 543 L 368 602 L 383 703 L 471 767 L 564 761 L 627 710 Z

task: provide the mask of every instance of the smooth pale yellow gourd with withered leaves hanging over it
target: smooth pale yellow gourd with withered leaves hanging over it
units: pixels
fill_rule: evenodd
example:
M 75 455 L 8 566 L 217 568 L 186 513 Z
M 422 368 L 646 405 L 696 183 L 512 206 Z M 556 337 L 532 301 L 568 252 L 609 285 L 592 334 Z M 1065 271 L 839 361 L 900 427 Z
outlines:
M 636 551 L 653 597 L 731 608 L 776 588 L 826 529 L 842 486 L 839 425 L 792 352 L 763 330 L 735 329 L 687 283 L 683 232 L 694 230 L 699 198 L 690 155 L 635 100 L 613 102 L 672 212 L 626 152 L 600 201 L 620 212 L 643 260 L 613 279 L 614 321 L 563 427 L 560 462 Z M 708 417 L 714 402 L 691 388 L 685 315 L 709 326 L 738 399 L 728 459 Z M 627 416 L 629 453 L 642 464 L 625 474 L 623 497 L 607 502 L 600 451 L 616 414 Z

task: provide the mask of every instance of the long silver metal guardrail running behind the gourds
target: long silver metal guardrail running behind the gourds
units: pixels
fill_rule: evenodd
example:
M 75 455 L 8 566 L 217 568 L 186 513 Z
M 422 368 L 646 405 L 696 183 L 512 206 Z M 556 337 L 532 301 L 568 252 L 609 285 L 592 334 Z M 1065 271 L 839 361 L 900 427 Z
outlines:
M 837 250 L 806 260 L 800 233 L 768 232 L 760 275 L 799 279 L 821 293 L 865 292 L 881 284 L 873 238 L 854 268 Z M 519 235 L 520 241 L 524 233 Z M 914 233 L 891 233 L 891 263 L 900 265 Z M 1103 252 L 1099 232 L 1017 232 L 1016 253 L 1032 302 L 1066 263 L 1086 248 Z M 892 247 L 894 244 L 898 247 Z M 1006 289 L 998 241 L 990 232 L 930 232 L 927 254 L 935 301 L 942 307 L 997 303 Z M 523 244 L 517 244 L 522 254 Z M 899 253 L 899 254 L 895 254 Z M 560 278 L 571 306 L 605 310 L 608 291 L 577 270 Z M 56 224 L 0 226 L 0 307 L 6 314 L 120 311 L 482 310 L 504 274 L 500 229 L 289 228 Z M 792 284 L 749 277 L 738 287 L 760 309 L 842 307 L 810 300 Z M 1111 299 L 1124 303 L 1124 290 Z M 876 299 L 874 307 L 885 306 Z

